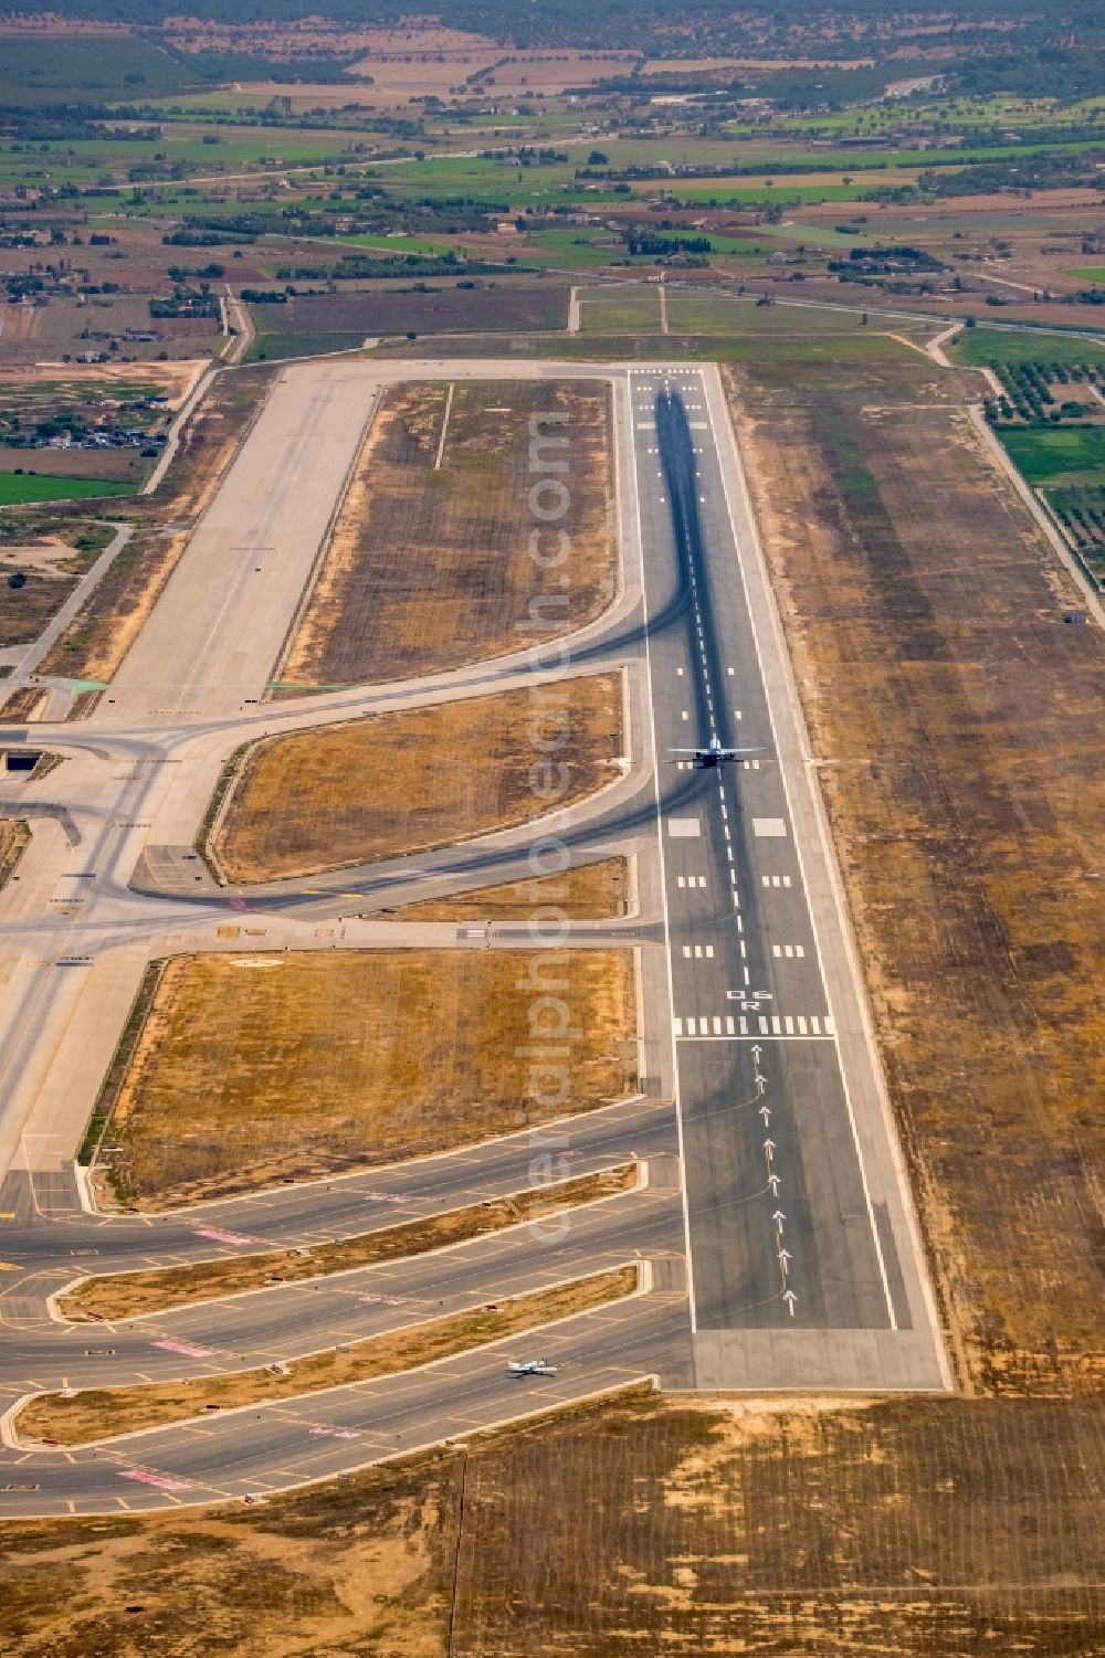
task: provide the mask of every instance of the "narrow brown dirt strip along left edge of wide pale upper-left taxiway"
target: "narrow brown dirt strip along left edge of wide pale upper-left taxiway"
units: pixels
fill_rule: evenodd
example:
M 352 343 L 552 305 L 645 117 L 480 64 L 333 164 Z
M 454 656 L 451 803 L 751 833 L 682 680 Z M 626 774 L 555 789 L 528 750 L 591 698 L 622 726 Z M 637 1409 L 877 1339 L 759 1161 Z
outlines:
M 149 502 L 128 501 L 139 531 L 41 662 L 43 673 L 110 680 L 153 610 L 196 519 L 209 504 L 270 383 L 270 371 L 219 375 L 184 424 L 168 478 Z M 169 522 L 169 531 L 163 529 Z

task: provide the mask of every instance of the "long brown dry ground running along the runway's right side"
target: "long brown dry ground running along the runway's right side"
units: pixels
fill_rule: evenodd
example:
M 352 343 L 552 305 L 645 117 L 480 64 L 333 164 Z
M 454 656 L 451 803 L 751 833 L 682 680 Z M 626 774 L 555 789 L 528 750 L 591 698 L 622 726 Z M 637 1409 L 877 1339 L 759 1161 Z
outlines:
M 1105 645 L 961 413 L 732 386 L 962 1379 L 1100 1389 Z

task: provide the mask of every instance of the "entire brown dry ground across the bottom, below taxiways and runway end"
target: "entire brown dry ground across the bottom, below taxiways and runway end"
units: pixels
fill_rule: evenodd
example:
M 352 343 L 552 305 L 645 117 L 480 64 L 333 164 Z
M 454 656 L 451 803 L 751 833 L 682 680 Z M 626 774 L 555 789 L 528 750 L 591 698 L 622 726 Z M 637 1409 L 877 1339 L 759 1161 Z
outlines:
M 1085 1401 L 624 1396 L 249 1509 L 10 1524 L 0 1587 L 20 1658 L 1088 1658 L 1102 1466 Z

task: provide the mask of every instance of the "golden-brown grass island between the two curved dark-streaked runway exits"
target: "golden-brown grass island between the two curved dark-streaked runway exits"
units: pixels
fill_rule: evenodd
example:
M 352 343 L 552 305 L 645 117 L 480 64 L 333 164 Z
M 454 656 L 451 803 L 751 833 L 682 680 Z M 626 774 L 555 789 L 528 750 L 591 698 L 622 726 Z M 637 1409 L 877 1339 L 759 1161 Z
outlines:
M 564 731 L 554 756 L 534 746 Z M 617 673 L 269 738 L 246 754 L 211 851 L 232 882 L 420 852 L 577 804 L 621 754 Z

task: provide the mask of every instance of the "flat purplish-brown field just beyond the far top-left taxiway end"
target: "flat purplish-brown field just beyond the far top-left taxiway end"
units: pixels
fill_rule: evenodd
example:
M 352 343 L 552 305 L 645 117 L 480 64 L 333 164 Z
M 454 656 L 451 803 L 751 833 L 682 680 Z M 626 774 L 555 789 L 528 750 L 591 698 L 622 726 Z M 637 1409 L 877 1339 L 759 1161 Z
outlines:
M 455 284 L 433 292 L 380 288 L 342 293 L 333 298 L 292 298 L 287 305 L 251 307 L 257 337 L 251 360 L 317 356 L 324 351 L 352 351 L 383 335 L 448 333 L 455 330 L 559 330 L 567 322 L 567 288 L 561 284 L 531 287 L 475 279 L 479 285 Z

